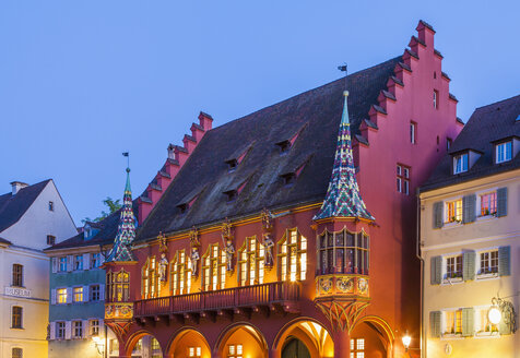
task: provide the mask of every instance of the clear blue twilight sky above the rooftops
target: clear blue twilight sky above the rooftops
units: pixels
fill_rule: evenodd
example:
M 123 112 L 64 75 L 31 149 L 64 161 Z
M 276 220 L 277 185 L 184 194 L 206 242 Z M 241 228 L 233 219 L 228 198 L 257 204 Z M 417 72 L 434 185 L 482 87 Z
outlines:
M 458 115 L 520 94 L 520 2 L 0 3 L 0 193 L 54 178 L 76 224 L 140 194 L 200 110 L 214 126 L 401 55 L 419 19 Z

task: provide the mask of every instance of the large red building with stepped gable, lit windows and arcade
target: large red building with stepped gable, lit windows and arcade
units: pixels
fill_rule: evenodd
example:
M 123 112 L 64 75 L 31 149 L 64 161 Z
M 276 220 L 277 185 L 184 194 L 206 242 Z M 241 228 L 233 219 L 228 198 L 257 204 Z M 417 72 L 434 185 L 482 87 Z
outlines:
M 347 105 L 340 79 L 205 133 L 105 263 L 120 357 L 151 336 L 157 357 L 418 348 L 413 193 L 462 123 L 435 31 L 417 32 L 346 77 Z

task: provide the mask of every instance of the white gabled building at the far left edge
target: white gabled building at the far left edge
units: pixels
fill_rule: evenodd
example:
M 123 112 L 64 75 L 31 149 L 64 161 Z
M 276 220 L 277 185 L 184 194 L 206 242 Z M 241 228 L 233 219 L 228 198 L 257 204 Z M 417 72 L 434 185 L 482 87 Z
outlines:
M 49 259 L 42 250 L 78 231 L 52 180 L 11 186 L 0 195 L 0 357 L 47 357 Z

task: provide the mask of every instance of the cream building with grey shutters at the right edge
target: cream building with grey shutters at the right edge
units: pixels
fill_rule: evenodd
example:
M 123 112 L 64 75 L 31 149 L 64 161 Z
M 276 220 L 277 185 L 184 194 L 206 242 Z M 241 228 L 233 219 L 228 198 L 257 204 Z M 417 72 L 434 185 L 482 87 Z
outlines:
M 425 357 L 520 357 L 519 152 L 517 96 L 477 108 L 421 188 Z

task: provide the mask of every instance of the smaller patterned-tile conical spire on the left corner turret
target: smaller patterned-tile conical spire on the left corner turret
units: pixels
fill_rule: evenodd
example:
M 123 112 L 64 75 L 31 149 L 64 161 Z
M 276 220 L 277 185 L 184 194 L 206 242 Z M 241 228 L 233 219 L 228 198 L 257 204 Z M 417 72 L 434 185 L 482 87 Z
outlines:
M 131 246 L 135 239 L 135 216 L 132 210 L 132 190 L 130 189 L 130 168 L 127 168 L 127 184 L 125 186 L 121 215 L 119 217 L 114 247 L 108 254 L 107 262 L 135 260 L 131 251 Z

